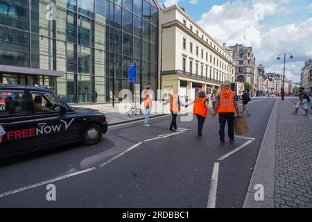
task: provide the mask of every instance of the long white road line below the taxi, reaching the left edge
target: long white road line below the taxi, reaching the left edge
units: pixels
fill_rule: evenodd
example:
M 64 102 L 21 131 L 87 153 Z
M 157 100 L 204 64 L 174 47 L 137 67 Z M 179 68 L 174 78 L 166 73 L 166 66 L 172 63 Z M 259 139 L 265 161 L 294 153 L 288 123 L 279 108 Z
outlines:
M 21 191 L 25 191 L 27 189 L 32 189 L 32 188 L 35 188 L 35 187 L 40 187 L 42 185 L 47 185 L 51 182 L 55 182 L 55 181 L 59 181 L 59 180 L 64 180 L 66 178 L 70 178 L 70 177 L 73 177 L 73 176 L 77 176 L 77 175 L 80 175 L 82 173 L 87 173 L 89 171 L 94 171 L 96 169 L 96 167 L 92 167 L 92 168 L 89 168 L 89 169 L 85 169 L 83 171 L 77 171 L 75 173 L 70 173 L 70 174 L 67 174 L 67 175 L 64 175 L 64 176 L 60 176 L 58 178 L 53 178 L 51 180 L 45 180 L 43 182 L 38 182 L 38 183 L 35 183 L 33 185 L 29 185 L 27 187 L 21 187 L 21 188 L 18 188 L 18 189 L 14 189 L 14 190 L 11 190 L 11 191 L 7 191 L 3 194 L 0 194 L 0 198 L 4 197 L 4 196 L 9 196 L 9 195 L 12 195 L 12 194 L 17 194 Z

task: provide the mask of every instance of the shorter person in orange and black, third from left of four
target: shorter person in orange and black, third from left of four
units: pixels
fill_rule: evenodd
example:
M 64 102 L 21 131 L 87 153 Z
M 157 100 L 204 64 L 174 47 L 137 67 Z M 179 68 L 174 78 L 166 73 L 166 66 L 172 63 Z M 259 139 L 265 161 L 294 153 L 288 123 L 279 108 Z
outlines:
M 209 111 L 211 114 L 211 110 L 209 109 L 208 99 L 205 91 L 200 91 L 198 94 L 198 97 L 195 99 L 195 101 L 191 102 L 194 103 L 193 106 L 193 114 L 196 115 L 198 119 L 198 137 L 202 137 L 202 128 L 204 127 L 205 119 L 207 118 L 207 111 Z M 191 105 L 189 103 L 188 105 Z M 187 106 L 188 106 L 187 105 Z

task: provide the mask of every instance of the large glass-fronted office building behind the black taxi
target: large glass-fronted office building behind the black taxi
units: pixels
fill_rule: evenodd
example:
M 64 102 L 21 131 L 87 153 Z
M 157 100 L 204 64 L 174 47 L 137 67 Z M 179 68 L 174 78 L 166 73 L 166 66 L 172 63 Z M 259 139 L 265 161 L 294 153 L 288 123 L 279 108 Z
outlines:
M 135 62 L 137 83 L 157 89 L 158 10 L 154 0 L 0 0 L 0 83 L 119 101 Z

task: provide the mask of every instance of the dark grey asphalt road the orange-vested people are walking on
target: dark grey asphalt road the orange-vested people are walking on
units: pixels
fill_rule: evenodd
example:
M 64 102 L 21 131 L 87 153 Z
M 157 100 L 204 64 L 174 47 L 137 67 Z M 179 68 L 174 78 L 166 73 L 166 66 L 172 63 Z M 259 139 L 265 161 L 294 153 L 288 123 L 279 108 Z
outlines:
M 211 199 L 215 207 L 242 207 L 274 103 L 252 99 L 246 119 L 254 139 L 236 138 L 234 144 L 227 138 L 218 144 L 218 117 L 205 121 L 201 139 L 197 119 L 178 117 L 180 131 L 170 134 L 171 117 L 159 117 L 150 128 L 141 121 L 111 127 L 95 146 L 71 144 L 4 160 L 0 207 L 205 208 Z M 215 162 L 218 180 L 211 183 Z M 51 183 L 56 201 L 46 200 Z

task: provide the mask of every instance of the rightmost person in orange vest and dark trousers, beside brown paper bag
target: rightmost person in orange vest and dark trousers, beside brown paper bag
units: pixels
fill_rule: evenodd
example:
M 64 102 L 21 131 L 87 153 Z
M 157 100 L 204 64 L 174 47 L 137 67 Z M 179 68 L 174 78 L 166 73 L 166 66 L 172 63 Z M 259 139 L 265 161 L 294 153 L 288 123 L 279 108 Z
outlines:
M 225 123 L 229 128 L 229 142 L 234 142 L 234 114 L 237 113 L 237 117 L 241 117 L 239 113 L 239 106 L 237 105 L 237 96 L 236 92 L 233 92 L 229 89 L 229 81 L 223 83 L 223 90 L 219 92 L 216 97 L 216 108 L 214 115 L 218 112 L 219 114 L 219 124 L 220 124 L 220 144 L 225 144 Z

